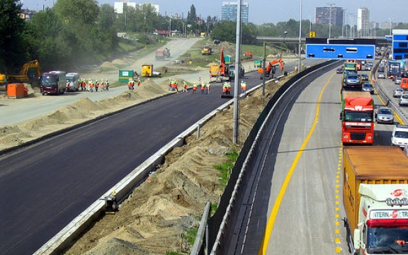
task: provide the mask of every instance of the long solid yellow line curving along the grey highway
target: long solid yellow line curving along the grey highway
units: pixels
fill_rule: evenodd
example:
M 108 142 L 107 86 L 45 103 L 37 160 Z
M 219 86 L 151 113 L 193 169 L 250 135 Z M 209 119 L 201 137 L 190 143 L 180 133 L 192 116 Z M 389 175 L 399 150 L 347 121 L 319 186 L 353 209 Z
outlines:
M 329 79 L 327 80 L 326 84 L 324 84 L 324 87 L 322 91 L 320 92 L 319 99 L 317 101 L 317 107 L 316 107 L 316 115 L 314 116 L 314 122 L 312 125 L 312 128 L 310 129 L 309 133 L 307 134 L 306 139 L 303 141 L 302 146 L 299 149 L 299 152 L 297 152 L 295 160 L 290 166 L 290 169 L 288 171 L 288 174 L 285 177 L 285 181 L 283 181 L 282 188 L 280 188 L 280 191 L 278 193 L 278 197 L 276 198 L 276 202 L 273 205 L 271 215 L 269 216 L 268 223 L 266 224 L 266 229 L 265 233 L 263 234 L 263 239 L 261 242 L 261 246 L 259 247 L 258 254 L 263 255 L 266 254 L 266 249 L 268 249 L 268 244 L 269 244 L 269 239 L 271 238 L 271 234 L 273 231 L 273 225 L 275 225 L 275 220 L 276 216 L 278 215 L 278 210 L 280 207 L 280 203 L 282 203 L 283 196 L 285 195 L 286 188 L 288 188 L 290 178 L 292 177 L 293 171 L 295 171 L 295 168 L 297 166 L 297 162 L 299 162 L 300 156 L 302 156 L 303 150 L 305 149 L 307 142 L 309 142 L 310 137 L 312 136 L 314 132 L 314 128 L 316 128 L 317 121 L 319 120 L 319 110 L 320 110 L 320 102 L 322 101 L 322 96 L 323 92 L 326 89 L 327 85 L 329 84 L 331 78 L 333 78 L 334 74 L 331 74 Z

